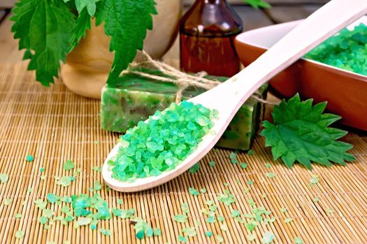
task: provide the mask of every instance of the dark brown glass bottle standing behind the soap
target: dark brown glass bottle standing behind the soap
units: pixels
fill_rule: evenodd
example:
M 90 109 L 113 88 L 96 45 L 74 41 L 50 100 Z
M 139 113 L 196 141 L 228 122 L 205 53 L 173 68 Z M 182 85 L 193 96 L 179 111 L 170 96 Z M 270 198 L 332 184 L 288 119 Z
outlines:
M 180 68 L 231 77 L 240 70 L 234 38 L 243 30 L 226 0 L 196 0 L 180 20 Z

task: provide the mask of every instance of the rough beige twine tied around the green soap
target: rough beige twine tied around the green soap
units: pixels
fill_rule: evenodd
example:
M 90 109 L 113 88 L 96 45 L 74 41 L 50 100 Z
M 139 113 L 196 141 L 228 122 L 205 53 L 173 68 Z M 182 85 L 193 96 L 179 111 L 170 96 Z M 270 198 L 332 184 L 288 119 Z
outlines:
M 152 59 L 152 57 L 149 56 L 149 54 L 147 54 L 145 51 L 143 51 L 142 54 L 146 60 L 142 62 L 138 62 L 138 63 L 136 62 L 131 63 L 129 65 L 129 68 L 127 68 L 127 70 L 124 70 L 122 72 L 122 75 L 131 73 L 135 75 L 140 75 L 142 77 L 147 77 L 150 79 L 156 79 L 161 82 L 168 82 L 168 83 L 175 84 L 176 86 L 178 86 L 178 91 L 176 93 L 176 98 L 175 98 L 175 102 L 177 103 L 181 102 L 182 93 L 189 86 L 194 86 L 196 88 L 210 90 L 214 88 L 215 86 L 222 83 L 216 80 L 206 79 L 205 76 L 208 75 L 208 73 L 204 71 L 200 73 L 196 73 L 194 75 L 187 74 L 187 73 L 181 72 L 180 70 L 176 68 L 173 68 L 172 66 L 168 66 L 168 64 L 164 62 Z M 168 77 L 161 77 L 159 75 L 147 74 L 147 73 L 143 73 L 141 71 L 134 69 L 134 68 L 139 68 L 139 67 L 140 68 L 144 68 L 144 67 L 145 68 L 156 68 L 157 70 L 161 71 L 161 73 L 163 73 L 164 75 L 167 75 Z M 261 94 L 258 92 L 255 92 L 252 95 L 252 98 L 256 99 L 257 101 L 263 104 L 273 105 L 272 102 L 268 102 L 262 99 Z

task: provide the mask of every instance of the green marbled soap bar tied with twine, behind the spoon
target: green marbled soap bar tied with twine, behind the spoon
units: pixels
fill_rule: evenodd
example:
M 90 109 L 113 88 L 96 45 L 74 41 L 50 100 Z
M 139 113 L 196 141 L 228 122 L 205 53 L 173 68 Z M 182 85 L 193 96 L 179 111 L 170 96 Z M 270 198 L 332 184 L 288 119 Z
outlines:
M 141 68 L 139 71 L 152 75 L 163 75 L 159 70 Z M 224 82 L 226 77 L 212 77 Z M 144 121 L 157 110 L 163 110 L 175 100 L 178 87 L 175 84 L 160 82 L 132 73 L 118 78 L 114 86 L 106 85 L 101 97 L 101 128 L 115 132 L 125 132 L 138 121 Z M 267 84 L 261 86 L 259 93 L 265 98 Z M 190 87 L 182 93 L 189 99 L 203 93 L 204 89 Z M 217 146 L 238 150 L 248 150 L 259 128 L 262 105 L 254 98 L 248 99 L 238 110 L 229 127 L 222 135 Z

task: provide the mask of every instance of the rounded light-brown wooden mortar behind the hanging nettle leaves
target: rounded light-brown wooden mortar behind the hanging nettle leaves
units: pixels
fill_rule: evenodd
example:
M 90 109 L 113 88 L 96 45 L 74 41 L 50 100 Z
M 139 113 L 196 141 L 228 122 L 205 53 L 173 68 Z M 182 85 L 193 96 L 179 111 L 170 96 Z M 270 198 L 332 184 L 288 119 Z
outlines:
M 156 3 L 158 14 L 153 15 L 153 29 L 147 31 L 144 50 L 154 59 L 159 59 L 177 36 L 182 0 L 156 0 Z M 109 45 L 110 38 L 104 33 L 103 24 L 95 26 L 93 22 L 85 39 L 68 54 L 62 66 L 62 81 L 69 90 L 88 98 L 101 98 L 101 89 L 113 63 Z M 138 53 L 136 59 L 140 55 Z

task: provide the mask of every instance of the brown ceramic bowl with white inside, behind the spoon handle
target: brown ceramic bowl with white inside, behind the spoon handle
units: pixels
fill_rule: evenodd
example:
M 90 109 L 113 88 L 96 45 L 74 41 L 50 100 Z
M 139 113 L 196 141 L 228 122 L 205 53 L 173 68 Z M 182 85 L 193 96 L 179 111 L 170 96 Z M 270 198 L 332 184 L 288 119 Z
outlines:
M 243 65 L 252 63 L 301 21 L 276 24 L 238 35 L 236 50 Z M 350 27 L 361 22 L 367 24 L 367 17 L 361 18 Z M 303 98 L 313 98 L 315 102 L 328 101 L 329 112 L 343 116 L 341 123 L 367 130 L 366 75 L 310 59 L 300 59 L 271 79 L 269 84 L 286 98 L 298 92 Z

